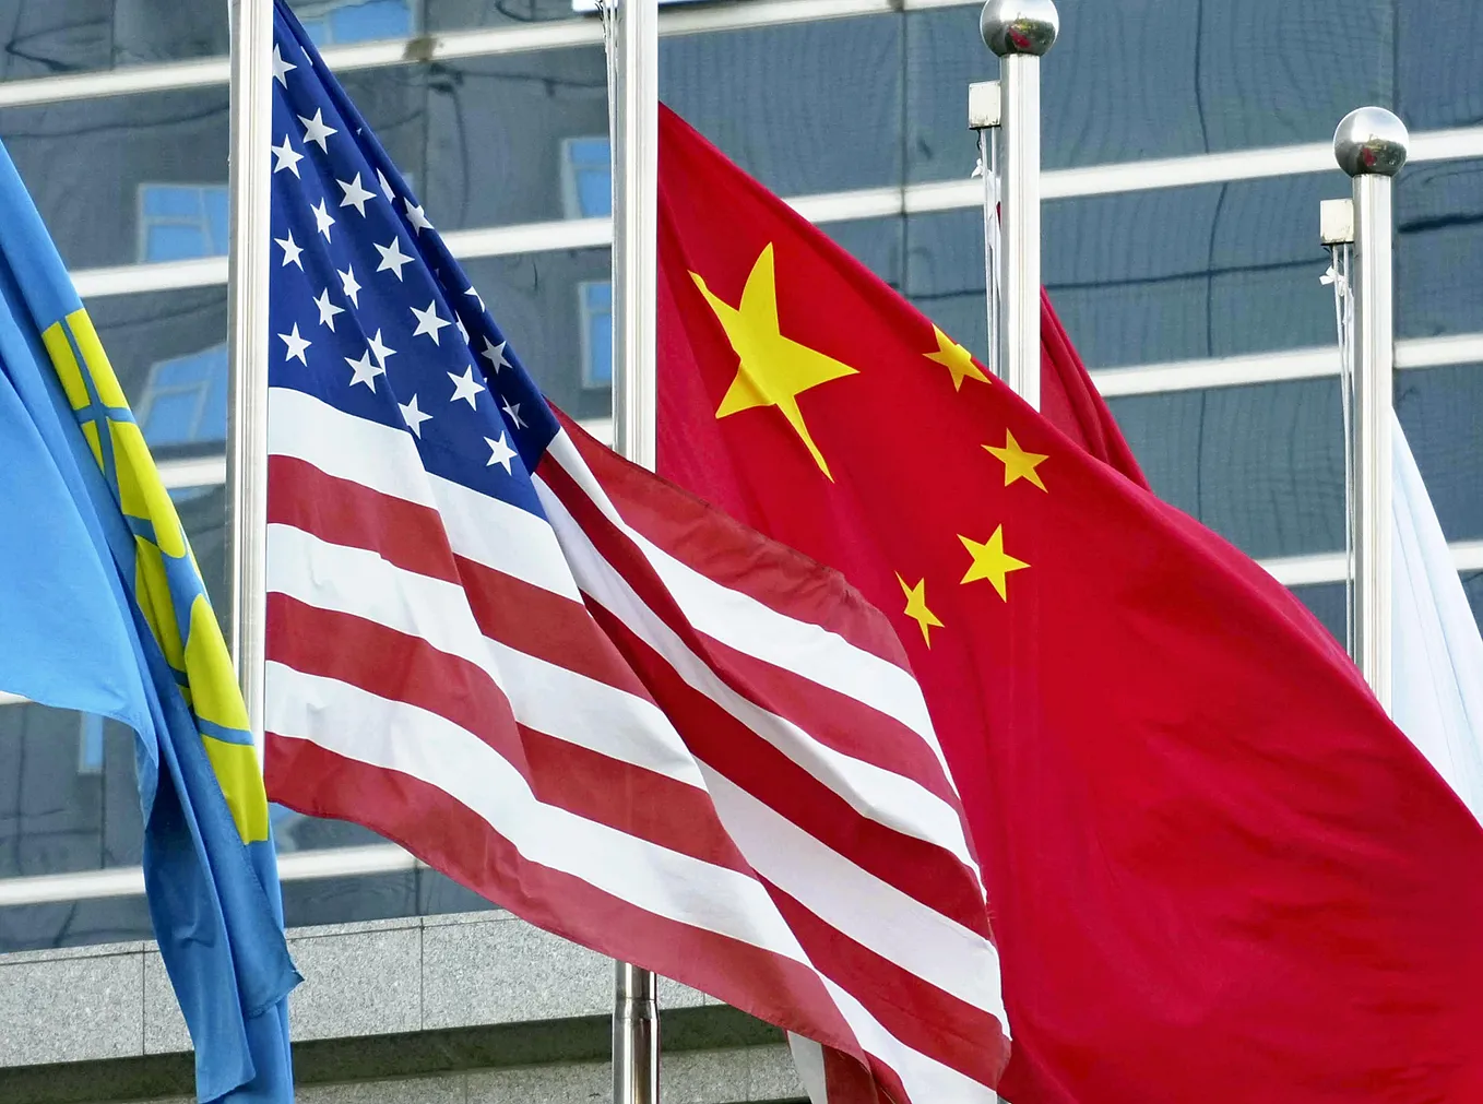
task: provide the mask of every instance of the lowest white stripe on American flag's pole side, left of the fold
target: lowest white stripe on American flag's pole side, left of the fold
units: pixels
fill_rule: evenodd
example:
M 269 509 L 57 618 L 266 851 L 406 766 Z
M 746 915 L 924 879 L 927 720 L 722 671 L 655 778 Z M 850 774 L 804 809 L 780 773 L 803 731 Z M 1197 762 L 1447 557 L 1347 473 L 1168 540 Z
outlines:
M 267 665 L 267 680 L 270 732 L 440 789 L 528 862 L 571 874 L 655 916 L 807 965 L 755 878 L 543 804 L 497 751 L 437 714 L 276 662 Z

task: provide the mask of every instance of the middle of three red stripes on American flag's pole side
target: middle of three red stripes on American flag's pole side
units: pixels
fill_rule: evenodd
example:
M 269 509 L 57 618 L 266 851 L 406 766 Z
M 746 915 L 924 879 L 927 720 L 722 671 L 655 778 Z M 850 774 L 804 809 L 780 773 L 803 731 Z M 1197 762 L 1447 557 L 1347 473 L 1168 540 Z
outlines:
M 750 873 L 703 789 L 518 724 L 478 665 L 384 625 L 268 594 L 267 657 L 427 709 L 494 748 L 552 806 L 660 847 Z

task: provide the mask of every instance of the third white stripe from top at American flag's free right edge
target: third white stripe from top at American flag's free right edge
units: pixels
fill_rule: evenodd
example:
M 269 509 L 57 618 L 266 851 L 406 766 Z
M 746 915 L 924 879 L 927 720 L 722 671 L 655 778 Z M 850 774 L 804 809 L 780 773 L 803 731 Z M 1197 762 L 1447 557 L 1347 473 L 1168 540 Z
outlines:
M 988 939 L 862 870 L 709 769 L 706 786 L 752 870 L 862 947 L 1007 1022 L 1000 956 Z

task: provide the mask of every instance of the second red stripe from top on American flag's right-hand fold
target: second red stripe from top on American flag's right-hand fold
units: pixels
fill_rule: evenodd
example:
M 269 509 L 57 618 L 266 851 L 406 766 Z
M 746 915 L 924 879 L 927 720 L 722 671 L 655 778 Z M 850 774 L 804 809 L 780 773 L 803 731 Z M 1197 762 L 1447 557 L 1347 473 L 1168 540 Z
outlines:
M 958 807 L 960 803 L 942 764 L 915 732 L 894 717 L 822 687 L 793 671 L 746 656 L 700 634 L 664 588 L 648 558 L 627 534 L 598 509 L 596 503 L 564 467 L 543 461 L 540 478 L 567 507 L 598 553 L 623 576 L 660 620 L 690 644 L 696 654 L 703 656 L 710 666 L 716 668 L 716 672 L 733 690 L 756 705 L 764 705 L 764 702 L 753 694 L 767 691 L 765 700 L 768 703 L 765 708 L 786 717 L 820 743 L 881 770 L 909 778 L 955 809 Z M 725 662 L 731 657 L 734 657 L 734 663 Z M 795 687 L 792 693 L 773 694 L 789 683 Z M 835 714 L 845 709 L 848 714 L 839 712 L 839 717 L 848 724 L 839 724 Z M 869 736 L 862 737 L 862 732 L 868 732 Z M 964 835 L 967 835 L 967 828 L 964 828 Z

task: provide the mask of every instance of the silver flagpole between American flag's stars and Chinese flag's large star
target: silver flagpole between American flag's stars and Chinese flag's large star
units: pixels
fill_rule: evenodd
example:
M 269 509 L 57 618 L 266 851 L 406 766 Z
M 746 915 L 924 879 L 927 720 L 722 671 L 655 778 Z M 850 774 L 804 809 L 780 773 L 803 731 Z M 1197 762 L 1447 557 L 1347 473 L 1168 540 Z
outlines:
M 658 312 L 658 1 L 617 6 L 612 208 L 612 436 L 654 467 Z M 617 963 L 612 1104 L 658 1104 L 658 1000 L 650 970 Z

